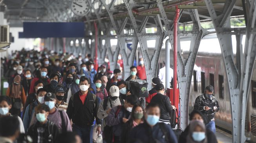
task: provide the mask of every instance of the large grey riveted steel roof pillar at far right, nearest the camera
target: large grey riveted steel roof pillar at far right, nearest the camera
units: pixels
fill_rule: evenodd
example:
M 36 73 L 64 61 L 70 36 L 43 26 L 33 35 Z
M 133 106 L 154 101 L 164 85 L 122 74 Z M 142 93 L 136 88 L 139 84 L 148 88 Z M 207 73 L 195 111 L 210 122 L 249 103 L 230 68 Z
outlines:
M 241 50 L 241 35 L 236 32 L 237 39 L 237 64 L 234 64 L 234 54 L 232 50 L 231 33 L 225 32 L 231 27 L 230 15 L 232 5 L 236 0 L 225 2 L 225 16 L 217 16 L 211 0 L 205 0 L 207 9 L 212 18 L 216 33 L 222 50 L 222 57 L 225 63 L 225 70 L 228 80 L 228 89 L 232 109 L 232 139 L 233 143 L 245 142 L 245 113 L 250 89 L 252 69 L 256 56 L 256 30 L 254 29 L 256 17 L 256 0 L 243 0 L 243 11 L 246 23 L 246 39 L 244 53 Z M 231 6 L 229 6 L 231 5 Z M 241 73 L 241 74 L 240 74 Z

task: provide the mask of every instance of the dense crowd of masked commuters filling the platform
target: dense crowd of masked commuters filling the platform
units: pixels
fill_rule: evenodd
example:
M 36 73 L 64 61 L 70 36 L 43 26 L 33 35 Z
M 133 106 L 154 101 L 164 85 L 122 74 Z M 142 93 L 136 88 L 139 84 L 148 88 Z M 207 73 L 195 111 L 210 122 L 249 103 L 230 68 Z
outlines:
M 143 59 L 126 80 L 120 65 L 110 71 L 105 62 L 95 70 L 89 54 L 82 59 L 46 50 L 2 59 L 9 87 L 0 96 L 0 143 L 217 143 L 212 86 L 196 99 L 177 138 L 170 125 L 176 107 L 161 80 L 154 77 L 148 97 L 139 97 L 127 81 L 146 79 Z

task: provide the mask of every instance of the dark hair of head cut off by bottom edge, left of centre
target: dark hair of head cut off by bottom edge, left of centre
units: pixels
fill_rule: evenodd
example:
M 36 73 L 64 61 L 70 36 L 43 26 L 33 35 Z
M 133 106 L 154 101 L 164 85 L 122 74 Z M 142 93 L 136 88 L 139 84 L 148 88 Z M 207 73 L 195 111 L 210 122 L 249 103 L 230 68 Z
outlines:
M 59 134 L 56 143 L 76 143 L 76 135 L 74 132 L 63 132 Z

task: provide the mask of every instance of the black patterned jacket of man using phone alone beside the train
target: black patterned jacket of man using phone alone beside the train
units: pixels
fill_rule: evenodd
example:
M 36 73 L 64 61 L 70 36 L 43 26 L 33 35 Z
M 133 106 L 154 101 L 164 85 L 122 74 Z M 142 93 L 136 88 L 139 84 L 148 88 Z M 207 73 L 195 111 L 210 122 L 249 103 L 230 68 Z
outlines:
M 206 111 L 205 109 L 203 109 L 204 106 L 208 106 L 211 109 Z M 213 109 L 214 106 L 217 107 L 215 111 Z M 218 101 L 214 96 L 212 96 L 211 98 L 207 98 L 205 97 L 205 95 L 200 95 L 196 98 L 194 109 L 202 112 L 205 116 L 207 116 L 207 119 L 206 119 L 207 121 L 205 122 L 208 123 L 214 120 L 214 115 L 216 114 L 216 112 L 220 110 L 220 107 L 219 107 Z

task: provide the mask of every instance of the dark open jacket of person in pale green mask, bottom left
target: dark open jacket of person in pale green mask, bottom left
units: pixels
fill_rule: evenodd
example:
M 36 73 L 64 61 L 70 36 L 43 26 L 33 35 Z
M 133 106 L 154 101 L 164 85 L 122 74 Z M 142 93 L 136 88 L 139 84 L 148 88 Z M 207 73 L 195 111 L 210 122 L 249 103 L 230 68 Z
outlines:
M 44 141 L 42 143 L 55 143 L 58 135 L 60 134 L 59 128 L 53 122 L 49 120 L 42 125 L 40 122 L 36 122 L 27 131 L 27 134 L 33 139 L 33 143 L 38 143 L 38 128 L 44 128 Z M 52 137 L 51 137 L 51 136 Z

